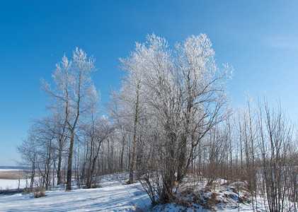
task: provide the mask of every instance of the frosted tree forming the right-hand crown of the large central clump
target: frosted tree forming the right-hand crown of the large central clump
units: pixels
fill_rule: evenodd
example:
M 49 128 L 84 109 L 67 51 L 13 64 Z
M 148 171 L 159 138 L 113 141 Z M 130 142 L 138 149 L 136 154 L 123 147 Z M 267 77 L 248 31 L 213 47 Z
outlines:
M 183 179 L 198 143 L 215 124 L 229 116 L 226 81 L 233 69 L 219 69 L 206 35 L 190 36 L 176 45 L 175 69 L 180 93 L 180 155 L 177 180 Z

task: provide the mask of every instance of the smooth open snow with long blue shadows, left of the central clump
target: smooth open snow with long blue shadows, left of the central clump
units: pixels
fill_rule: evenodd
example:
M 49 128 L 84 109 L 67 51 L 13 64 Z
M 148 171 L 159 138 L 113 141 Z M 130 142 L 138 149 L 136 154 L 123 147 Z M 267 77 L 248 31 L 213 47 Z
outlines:
M 106 175 L 98 189 L 53 190 L 46 196 L 0 195 L 0 211 L 147 211 L 149 196 L 140 184 L 122 184 L 118 175 Z

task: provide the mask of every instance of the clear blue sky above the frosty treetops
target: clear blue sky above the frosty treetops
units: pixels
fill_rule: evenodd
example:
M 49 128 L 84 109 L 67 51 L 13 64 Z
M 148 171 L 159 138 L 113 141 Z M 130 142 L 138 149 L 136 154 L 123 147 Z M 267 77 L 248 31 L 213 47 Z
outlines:
M 206 33 L 217 63 L 234 66 L 229 93 L 266 93 L 298 118 L 298 1 L 0 1 L 0 165 L 14 165 L 30 119 L 47 113 L 40 78 L 75 47 L 96 58 L 102 102 L 119 88 L 119 57 L 147 34 L 169 45 Z

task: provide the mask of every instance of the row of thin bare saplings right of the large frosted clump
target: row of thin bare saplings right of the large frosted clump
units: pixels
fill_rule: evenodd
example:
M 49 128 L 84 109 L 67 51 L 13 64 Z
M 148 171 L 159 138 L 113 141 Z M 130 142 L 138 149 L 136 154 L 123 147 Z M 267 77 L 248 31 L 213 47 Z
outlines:
M 265 203 L 267 211 L 295 211 L 297 126 L 287 119 L 280 102 L 270 107 L 264 98 L 256 106 L 247 99 L 203 141 L 195 172 L 210 182 L 246 182 L 254 209 Z M 263 196 L 262 203 L 258 196 Z

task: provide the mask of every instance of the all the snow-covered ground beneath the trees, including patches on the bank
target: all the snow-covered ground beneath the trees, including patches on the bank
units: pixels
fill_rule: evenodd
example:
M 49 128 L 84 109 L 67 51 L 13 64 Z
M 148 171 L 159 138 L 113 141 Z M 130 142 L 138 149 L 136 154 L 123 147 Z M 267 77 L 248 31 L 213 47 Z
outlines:
M 202 206 L 185 208 L 176 203 L 150 208 L 151 200 L 142 191 L 139 183 L 127 185 L 128 175 L 105 175 L 101 178 L 101 188 L 76 189 L 65 192 L 63 187 L 54 187 L 45 192 L 46 196 L 33 198 L 33 194 L 0 195 L 0 211 L 207 211 Z M 217 204 L 218 211 L 253 211 L 251 204 L 237 204 L 232 189 L 219 187 L 212 192 L 218 193 L 217 199 L 231 196 L 224 206 Z M 210 192 L 210 194 L 212 194 Z M 204 195 L 209 195 L 208 192 Z M 185 196 L 193 198 L 191 194 Z M 221 203 L 227 201 L 222 199 Z M 258 211 L 265 211 L 262 200 L 258 199 Z M 239 206 L 239 208 L 238 208 Z M 211 210 L 210 210 L 211 211 Z

